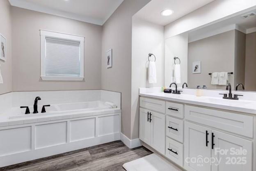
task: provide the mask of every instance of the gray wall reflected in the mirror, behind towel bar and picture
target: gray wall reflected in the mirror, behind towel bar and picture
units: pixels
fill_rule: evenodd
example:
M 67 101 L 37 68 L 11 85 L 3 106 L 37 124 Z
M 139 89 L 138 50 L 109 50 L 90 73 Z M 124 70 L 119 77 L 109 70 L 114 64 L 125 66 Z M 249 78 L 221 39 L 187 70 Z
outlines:
M 188 85 L 207 85 L 208 89 L 224 89 L 226 86 L 212 85 L 213 72 L 234 72 L 235 30 L 188 43 Z M 201 73 L 192 74 L 192 63 L 201 61 Z M 233 85 L 234 76 L 229 76 Z

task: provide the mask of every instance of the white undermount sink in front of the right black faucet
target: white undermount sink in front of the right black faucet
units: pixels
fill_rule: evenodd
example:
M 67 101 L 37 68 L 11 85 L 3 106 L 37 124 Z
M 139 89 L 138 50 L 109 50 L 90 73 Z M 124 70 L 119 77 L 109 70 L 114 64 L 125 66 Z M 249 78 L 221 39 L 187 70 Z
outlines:
M 240 100 L 229 100 L 229 99 L 219 99 L 219 98 L 203 98 L 201 99 L 201 101 L 205 103 L 215 103 L 215 104 L 230 105 L 230 106 L 248 105 L 251 103 L 251 102 L 240 101 Z

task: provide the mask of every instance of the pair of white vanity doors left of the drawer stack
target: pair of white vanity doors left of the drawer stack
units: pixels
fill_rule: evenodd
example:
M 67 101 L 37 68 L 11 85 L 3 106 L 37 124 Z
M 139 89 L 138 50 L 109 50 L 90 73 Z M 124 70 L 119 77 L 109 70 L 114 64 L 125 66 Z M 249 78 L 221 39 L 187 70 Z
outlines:
M 140 108 L 139 139 L 165 154 L 165 114 Z

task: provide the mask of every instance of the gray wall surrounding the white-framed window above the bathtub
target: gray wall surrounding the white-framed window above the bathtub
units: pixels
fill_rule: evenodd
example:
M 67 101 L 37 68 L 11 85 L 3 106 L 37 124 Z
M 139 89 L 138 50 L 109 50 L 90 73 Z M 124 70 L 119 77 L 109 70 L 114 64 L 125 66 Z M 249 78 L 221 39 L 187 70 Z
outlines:
M 13 91 L 101 89 L 102 26 L 17 7 L 11 14 Z M 40 29 L 85 36 L 84 81 L 41 80 Z

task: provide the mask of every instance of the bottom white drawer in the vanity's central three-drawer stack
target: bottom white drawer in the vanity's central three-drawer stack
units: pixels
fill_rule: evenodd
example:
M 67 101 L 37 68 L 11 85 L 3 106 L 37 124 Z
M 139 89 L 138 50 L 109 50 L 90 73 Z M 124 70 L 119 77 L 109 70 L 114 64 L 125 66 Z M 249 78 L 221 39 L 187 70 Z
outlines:
M 183 166 L 183 144 L 166 137 L 165 156 L 176 164 Z

